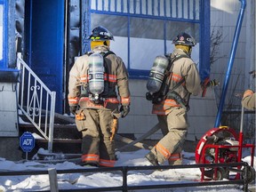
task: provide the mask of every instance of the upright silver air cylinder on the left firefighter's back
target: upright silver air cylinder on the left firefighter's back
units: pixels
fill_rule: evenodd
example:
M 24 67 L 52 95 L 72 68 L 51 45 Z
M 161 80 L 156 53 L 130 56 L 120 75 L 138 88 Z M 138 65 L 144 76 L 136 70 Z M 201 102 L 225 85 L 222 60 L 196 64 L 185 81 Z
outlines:
M 98 100 L 104 91 L 104 59 L 99 53 L 89 56 L 89 91 L 93 94 L 93 100 Z

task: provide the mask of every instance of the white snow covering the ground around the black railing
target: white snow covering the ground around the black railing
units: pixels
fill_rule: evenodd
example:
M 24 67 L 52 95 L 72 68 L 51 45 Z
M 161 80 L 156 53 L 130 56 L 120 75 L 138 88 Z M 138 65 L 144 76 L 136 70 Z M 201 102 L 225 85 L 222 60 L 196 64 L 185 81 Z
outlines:
M 42 150 L 42 149 L 41 149 Z M 116 166 L 147 166 L 150 165 L 144 156 L 148 153 L 146 149 L 140 149 L 133 152 L 118 152 L 118 160 Z M 194 153 L 183 152 L 183 164 L 196 164 L 195 160 L 189 160 L 194 157 Z M 250 163 L 251 156 L 243 159 Z M 254 162 L 256 157 L 254 157 Z M 40 164 L 36 161 L 12 162 L 4 158 L 0 158 L 0 172 L 4 171 L 25 171 L 25 170 L 48 170 L 55 168 L 56 170 L 65 169 L 89 169 L 80 165 L 63 162 L 61 164 Z M 93 168 L 94 169 L 94 168 Z M 255 169 L 255 165 L 254 165 Z M 198 168 L 189 169 L 169 169 L 164 171 L 131 171 L 128 172 L 128 186 L 136 185 L 153 185 L 153 184 L 170 184 L 170 183 L 186 183 L 198 182 L 201 172 Z M 75 188 L 102 188 L 122 186 L 123 178 L 121 172 L 88 172 L 88 173 L 70 173 L 58 174 L 59 189 L 75 189 Z M 194 188 L 165 188 L 165 189 L 145 189 L 131 190 L 134 191 L 219 191 L 219 192 L 240 192 L 243 191 L 242 186 L 225 185 L 213 187 L 194 187 Z M 28 176 L 0 176 L 0 192 L 9 191 L 44 191 L 50 190 L 49 175 L 28 175 Z M 84 190 L 85 191 L 85 190 Z

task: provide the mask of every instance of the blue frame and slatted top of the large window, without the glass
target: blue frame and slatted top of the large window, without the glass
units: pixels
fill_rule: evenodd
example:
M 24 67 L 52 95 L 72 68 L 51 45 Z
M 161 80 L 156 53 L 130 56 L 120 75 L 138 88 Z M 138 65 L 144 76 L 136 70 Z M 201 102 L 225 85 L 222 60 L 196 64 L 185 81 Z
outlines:
M 210 0 L 188 0 L 188 1 L 161 1 L 161 0 L 124 0 L 122 4 L 117 4 L 117 1 L 112 0 L 94 0 L 83 1 L 82 12 L 84 12 L 84 18 L 82 20 L 82 54 L 88 52 L 90 48 L 90 41 L 84 40 L 86 36 L 91 34 L 91 14 L 109 14 L 109 15 L 122 15 L 126 17 L 140 17 L 140 18 L 152 18 L 156 20 L 172 20 L 172 21 L 185 21 L 199 24 L 199 74 L 201 80 L 210 76 Z M 151 3 L 152 9 L 143 12 L 141 6 L 146 4 L 146 9 L 149 10 L 148 2 Z M 157 3 L 157 6 L 155 6 Z M 181 3 L 180 3 L 181 2 Z M 182 4 L 183 3 L 183 4 Z M 147 5 L 148 4 L 148 5 Z M 153 6 L 153 5 L 154 6 Z M 163 4 L 172 4 L 171 10 L 168 13 Z M 187 4 L 187 6 L 186 6 Z M 125 7 L 127 5 L 127 7 Z M 119 7 L 118 7 L 119 6 Z M 164 6 L 165 7 L 165 6 Z M 171 14 L 168 16 L 167 14 Z M 129 30 L 129 27 L 128 27 Z M 131 78 L 141 79 L 148 78 L 149 70 L 131 69 L 130 68 L 130 42 L 128 35 L 128 72 Z M 166 52 L 166 41 L 164 37 L 164 52 Z M 170 39 L 168 39 L 170 41 Z M 168 51 L 169 52 L 169 51 Z

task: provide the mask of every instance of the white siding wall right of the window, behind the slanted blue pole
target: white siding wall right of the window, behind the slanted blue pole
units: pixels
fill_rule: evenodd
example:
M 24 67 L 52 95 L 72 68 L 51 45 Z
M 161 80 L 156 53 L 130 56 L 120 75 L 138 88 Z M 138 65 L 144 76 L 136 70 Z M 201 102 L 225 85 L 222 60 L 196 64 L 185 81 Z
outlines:
M 233 108 L 241 107 L 241 97 L 237 97 L 237 95 L 241 95 L 246 88 L 252 88 L 252 84 L 249 86 L 252 82 L 249 71 L 255 69 L 255 1 L 247 0 L 246 2 L 243 25 L 225 100 L 226 105 L 232 104 Z M 241 2 L 238 0 L 211 0 L 211 5 L 211 31 L 220 30 L 222 33 L 222 43 L 218 49 L 220 60 L 212 64 L 211 73 L 212 78 L 220 80 L 220 87 L 216 89 L 216 99 L 219 103 Z

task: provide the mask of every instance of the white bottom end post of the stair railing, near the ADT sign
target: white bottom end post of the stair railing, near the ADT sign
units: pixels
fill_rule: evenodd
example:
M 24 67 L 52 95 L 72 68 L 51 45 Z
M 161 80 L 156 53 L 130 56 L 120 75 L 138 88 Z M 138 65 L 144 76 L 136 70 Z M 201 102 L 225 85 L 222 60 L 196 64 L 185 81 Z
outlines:
M 53 144 L 53 125 L 54 125 L 54 114 L 55 114 L 55 100 L 56 100 L 56 92 L 52 92 L 51 94 L 51 111 L 50 111 L 50 124 L 49 124 L 49 142 L 48 142 L 48 151 L 52 152 L 52 144 Z

